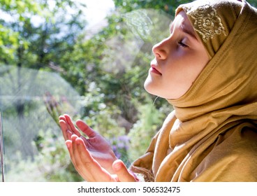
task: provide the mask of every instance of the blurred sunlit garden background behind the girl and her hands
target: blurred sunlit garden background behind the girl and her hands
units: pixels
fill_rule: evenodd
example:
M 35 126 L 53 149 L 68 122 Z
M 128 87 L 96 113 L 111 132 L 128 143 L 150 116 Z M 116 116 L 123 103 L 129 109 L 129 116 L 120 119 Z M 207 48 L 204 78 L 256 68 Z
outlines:
M 128 167 L 145 153 L 172 111 L 143 87 L 152 46 L 187 2 L 0 0 L 5 181 L 82 181 L 57 123 L 63 113 L 102 134 Z

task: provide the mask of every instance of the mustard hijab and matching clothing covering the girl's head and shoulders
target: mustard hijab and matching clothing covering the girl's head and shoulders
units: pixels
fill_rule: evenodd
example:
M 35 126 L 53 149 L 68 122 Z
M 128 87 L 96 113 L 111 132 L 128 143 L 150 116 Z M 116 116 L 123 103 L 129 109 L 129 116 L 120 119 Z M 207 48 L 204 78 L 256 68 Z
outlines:
M 198 0 L 184 10 L 210 55 L 131 170 L 145 181 L 257 181 L 257 10 Z

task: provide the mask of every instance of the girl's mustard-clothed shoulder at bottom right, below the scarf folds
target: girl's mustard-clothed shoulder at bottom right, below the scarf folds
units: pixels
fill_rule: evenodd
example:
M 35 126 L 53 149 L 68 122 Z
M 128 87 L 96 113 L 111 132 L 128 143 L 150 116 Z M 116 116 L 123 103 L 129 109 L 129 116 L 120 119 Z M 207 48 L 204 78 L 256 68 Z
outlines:
M 226 132 L 196 169 L 196 181 L 257 181 L 256 165 L 256 130 Z

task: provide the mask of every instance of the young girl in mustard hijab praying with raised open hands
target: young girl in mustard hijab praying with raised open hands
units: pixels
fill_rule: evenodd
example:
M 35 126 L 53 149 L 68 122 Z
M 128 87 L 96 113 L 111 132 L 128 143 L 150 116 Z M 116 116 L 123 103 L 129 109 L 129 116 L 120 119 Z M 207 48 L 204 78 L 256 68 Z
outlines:
M 145 155 L 126 169 L 82 120 L 60 116 L 86 181 L 257 181 L 257 10 L 242 0 L 179 6 L 154 45 L 145 89 L 174 107 Z

